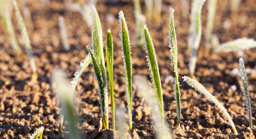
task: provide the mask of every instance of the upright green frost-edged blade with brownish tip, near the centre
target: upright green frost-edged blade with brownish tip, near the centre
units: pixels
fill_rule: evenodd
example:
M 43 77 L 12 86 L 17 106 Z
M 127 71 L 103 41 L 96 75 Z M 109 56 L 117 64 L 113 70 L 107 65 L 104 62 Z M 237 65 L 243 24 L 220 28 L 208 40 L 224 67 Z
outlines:
M 129 129 L 132 130 L 132 60 L 131 60 L 131 46 L 128 27 L 124 18 L 123 11 L 119 12 L 120 23 L 120 38 L 122 43 L 122 57 L 126 78 L 126 91 L 127 91 L 127 108 Z

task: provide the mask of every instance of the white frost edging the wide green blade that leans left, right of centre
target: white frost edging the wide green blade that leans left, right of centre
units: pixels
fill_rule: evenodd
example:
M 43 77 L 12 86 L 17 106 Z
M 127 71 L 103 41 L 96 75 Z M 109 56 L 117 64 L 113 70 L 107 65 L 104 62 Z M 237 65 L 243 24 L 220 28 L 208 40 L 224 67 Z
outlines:
M 153 81 L 153 75 L 152 75 L 152 72 L 151 72 L 151 65 L 150 65 L 150 61 L 149 61 L 149 58 L 148 58 L 148 50 L 147 50 L 147 43 L 146 43 L 146 37 L 145 37 L 145 32 L 144 32 L 144 30 L 147 30 L 147 32 L 148 32 L 148 34 L 149 34 L 149 38 L 150 38 L 150 42 L 151 42 L 151 44 L 152 44 L 152 46 L 153 46 L 153 52 L 154 52 L 154 54 L 155 54 L 155 48 L 154 48 L 154 44 L 153 44 L 153 41 L 152 41 L 152 38 L 151 38 L 151 35 L 150 35 L 150 33 L 149 33 L 149 31 L 148 31 L 148 28 L 147 28 L 147 25 L 144 25 L 143 26 L 143 35 L 144 35 L 144 46 L 145 46 L 145 48 L 146 48 L 146 53 L 147 53 L 147 56 L 146 56 L 146 59 L 147 59 L 147 61 L 148 61 L 148 63 L 147 63 L 147 65 L 148 65 L 148 67 L 149 67 L 149 71 L 150 71 L 150 78 L 151 78 L 151 81 L 152 81 L 152 84 L 153 84 L 153 87 L 155 88 L 155 92 L 157 92 L 157 88 L 156 88 L 156 86 L 155 86 L 155 83 L 154 83 L 154 81 Z M 164 102 L 163 102 L 163 91 L 162 91 L 162 84 L 161 84 L 161 79 L 160 79 L 160 74 L 159 74 L 159 68 L 158 68 L 158 62 L 157 62 L 157 59 L 156 59 L 156 56 L 155 56 L 155 61 L 156 61 L 156 65 L 157 65 L 157 73 L 158 73 L 158 78 L 159 78 L 159 83 L 160 83 L 160 91 L 161 92 L 159 92 L 160 94 L 161 94 L 161 96 L 158 96 L 158 93 L 156 93 L 156 95 L 157 95 L 157 97 L 161 97 L 162 98 L 162 106 L 160 105 L 160 102 L 158 103 L 158 105 L 161 107 L 161 109 L 162 110 L 164 110 Z M 158 99 L 158 98 L 157 98 Z M 159 109 L 159 112 L 160 112 L 160 109 Z M 160 112 L 160 114 L 163 114 L 162 115 L 162 117 L 164 117 L 164 113 L 161 113 Z

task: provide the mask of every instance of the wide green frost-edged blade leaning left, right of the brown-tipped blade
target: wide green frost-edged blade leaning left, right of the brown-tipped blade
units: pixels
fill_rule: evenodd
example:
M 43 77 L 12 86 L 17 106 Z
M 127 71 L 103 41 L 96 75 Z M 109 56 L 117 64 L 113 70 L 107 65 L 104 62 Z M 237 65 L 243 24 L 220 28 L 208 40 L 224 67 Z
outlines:
M 164 124 L 164 102 L 163 102 L 163 91 L 160 80 L 160 74 L 158 69 L 158 63 L 155 55 L 154 44 L 152 42 L 151 36 L 149 34 L 148 28 L 146 25 L 143 26 L 144 30 L 144 40 L 145 48 L 147 53 L 147 61 L 149 70 L 151 71 L 152 84 L 155 87 L 155 93 L 158 100 L 158 106 L 161 114 L 161 121 Z

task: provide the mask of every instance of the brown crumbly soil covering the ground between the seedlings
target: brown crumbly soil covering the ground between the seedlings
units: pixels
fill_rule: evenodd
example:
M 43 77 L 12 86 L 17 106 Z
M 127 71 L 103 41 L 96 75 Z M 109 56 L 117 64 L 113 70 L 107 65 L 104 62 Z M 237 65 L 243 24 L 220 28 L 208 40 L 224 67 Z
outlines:
M 253 119 L 253 129 L 248 126 L 245 97 L 242 95 L 240 84 L 236 77 L 231 77 L 230 72 L 238 68 L 237 53 L 215 53 L 204 49 L 204 31 L 206 24 L 207 2 L 202 11 L 203 35 L 198 52 L 195 77 L 202 83 L 221 103 L 227 108 L 233 118 L 239 135 L 234 135 L 225 116 L 209 100 L 195 92 L 182 81 L 182 76 L 188 75 L 187 36 L 189 20 L 181 16 L 181 3 L 175 0 L 163 0 L 162 19 L 158 25 L 153 20 L 147 19 L 155 52 L 159 63 L 159 72 L 164 94 L 165 120 L 173 131 L 174 138 L 239 138 L 252 139 L 256 134 L 256 120 Z M 52 92 L 50 86 L 51 73 L 56 68 L 65 70 L 71 80 L 79 62 L 88 54 L 85 45 L 91 44 L 91 29 L 83 21 L 83 17 L 67 10 L 67 6 L 60 0 L 52 0 L 49 5 L 39 1 L 28 0 L 32 14 L 33 24 L 26 22 L 29 37 L 32 42 L 35 61 L 38 69 L 38 82 L 31 82 L 31 69 L 29 59 L 24 47 L 22 55 L 15 55 L 9 46 L 6 32 L 0 23 L 0 138 L 29 138 L 36 128 L 44 126 L 43 138 L 67 138 L 67 122 L 64 122 L 63 132 L 57 135 L 58 117 L 60 108 L 58 97 Z M 110 28 L 114 40 L 114 92 L 116 106 L 126 108 L 125 77 L 123 76 L 123 63 L 121 57 L 121 44 L 119 38 L 118 13 L 124 11 L 131 43 L 133 76 L 145 75 L 150 80 L 147 70 L 146 53 L 139 51 L 135 45 L 135 19 L 133 2 L 128 0 L 101 0 L 97 3 L 103 38 L 106 39 L 107 29 Z M 168 8 L 175 9 L 175 28 L 178 41 L 178 62 L 181 84 L 181 127 L 177 125 L 176 104 L 173 94 L 173 82 L 168 79 L 173 77 L 173 66 L 170 65 L 170 52 L 168 47 Z M 248 37 L 256 39 L 256 1 L 243 0 L 237 15 L 232 15 L 228 1 L 218 1 L 217 15 L 215 17 L 214 33 L 218 35 L 221 43 L 236 38 Z M 144 11 L 144 4 L 142 5 Z M 107 14 L 115 18 L 107 20 Z M 58 30 L 58 16 L 63 15 L 68 30 L 71 51 L 66 53 L 61 45 Z M 16 36 L 21 46 L 16 18 L 12 14 Z M 224 22 L 231 26 L 225 28 Z M 256 68 L 256 49 L 245 51 L 245 66 L 247 69 Z M 99 109 L 99 96 L 97 94 L 97 81 L 94 78 L 92 65 L 81 76 L 76 94 L 80 99 L 80 124 L 79 129 L 84 138 L 111 138 L 112 130 L 100 130 L 98 124 L 101 117 Z M 252 114 L 256 115 L 256 73 L 248 74 L 249 90 L 252 100 Z M 133 138 L 155 138 L 156 128 L 149 116 L 149 107 L 137 94 L 135 85 L 133 89 Z M 232 87 L 231 87 L 232 86 Z M 110 101 L 109 101 L 110 103 Z M 110 106 L 110 104 L 109 104 Z M 109 107 L 110 108 L 110 107 Z M 110 128 L 112 128 L 110 114 Z M 94 125 L 96 125 L 94 127 Z M 94 134 L 93 136 L 91 136 Z M 128 135 L 127 135 L 128 136 Z M 116 137 L 116 136 L 115 136 Z

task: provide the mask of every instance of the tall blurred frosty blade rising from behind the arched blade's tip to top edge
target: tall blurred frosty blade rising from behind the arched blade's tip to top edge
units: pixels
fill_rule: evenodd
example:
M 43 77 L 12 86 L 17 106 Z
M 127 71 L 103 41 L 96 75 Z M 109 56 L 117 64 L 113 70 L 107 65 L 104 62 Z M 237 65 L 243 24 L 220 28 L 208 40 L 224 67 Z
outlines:
M 201 11 L 205 0 L 193 0 L 192 11 L 190 15 L 190 27 L 189 27 L 189 40 L 188 49 L 191 49 L 191 55 L 189 59 L 189 73 L 190 76 L 194 76 L 195 64 L 197 59 L 197 50 L 201 40 L 202 25 L 201 25 Z

